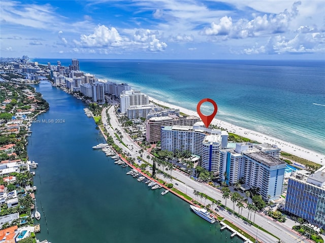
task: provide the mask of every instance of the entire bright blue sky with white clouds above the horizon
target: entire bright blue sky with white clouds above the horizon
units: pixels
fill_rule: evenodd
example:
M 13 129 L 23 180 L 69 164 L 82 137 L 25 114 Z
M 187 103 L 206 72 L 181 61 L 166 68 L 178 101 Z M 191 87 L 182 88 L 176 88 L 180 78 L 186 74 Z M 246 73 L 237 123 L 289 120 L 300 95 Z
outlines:
M 1 57 L 325 59 L 324 1 L 0 1 Z

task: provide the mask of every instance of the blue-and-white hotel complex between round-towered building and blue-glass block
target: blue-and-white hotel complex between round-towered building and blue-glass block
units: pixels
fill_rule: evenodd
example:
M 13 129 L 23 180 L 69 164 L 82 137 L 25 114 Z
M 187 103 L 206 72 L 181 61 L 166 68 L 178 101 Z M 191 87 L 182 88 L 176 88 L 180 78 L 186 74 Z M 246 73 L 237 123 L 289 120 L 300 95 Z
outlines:
M 259 187 L 263 199 L 281 196 L 286 163 L 278 158 L 277 146 L 238 143 L 220 151 L 219 175 L 228 185 L 243 180 L 243 189 Z M 224 175 L 226 174 L 226 177 Z

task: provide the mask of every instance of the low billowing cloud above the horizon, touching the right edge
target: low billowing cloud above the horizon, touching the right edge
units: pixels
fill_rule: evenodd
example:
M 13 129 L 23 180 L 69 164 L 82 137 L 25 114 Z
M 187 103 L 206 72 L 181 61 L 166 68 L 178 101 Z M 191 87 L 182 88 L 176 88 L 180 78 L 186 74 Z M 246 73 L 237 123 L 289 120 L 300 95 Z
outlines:
M 265 45 L 255 45 L 244 49 L 245 54 L 303 54 L 325 52 L 325 34 L 301 26 L 294 38 L 287 39 L 277 35 L 268 39 Z

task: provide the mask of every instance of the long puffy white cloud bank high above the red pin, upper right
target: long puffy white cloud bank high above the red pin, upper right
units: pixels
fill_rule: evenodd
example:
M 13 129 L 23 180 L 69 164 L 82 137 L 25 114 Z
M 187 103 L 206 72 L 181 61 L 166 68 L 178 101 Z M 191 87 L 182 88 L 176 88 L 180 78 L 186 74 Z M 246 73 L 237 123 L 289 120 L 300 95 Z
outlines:
M 246 38 L 262 34 L 283 33 L 288 30 L 290 21 L 298 15 L 299 5 L 301 2 L 295 2 L 290 12 L 285 9 L 279 14 L 263 16 L 253 14 L 252 20 L 239 19 L 237 22 L 233 22 L 231 17 L 224 16 L 217 22 L 212 22 L 210 27 L 203 30 L 203 34 L 221 35 L 226 38 Z

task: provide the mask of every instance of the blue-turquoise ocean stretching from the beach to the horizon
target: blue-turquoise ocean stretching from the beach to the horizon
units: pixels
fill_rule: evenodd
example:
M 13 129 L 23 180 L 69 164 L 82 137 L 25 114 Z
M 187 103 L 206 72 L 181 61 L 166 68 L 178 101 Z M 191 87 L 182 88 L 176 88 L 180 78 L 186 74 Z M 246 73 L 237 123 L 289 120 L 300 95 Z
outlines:
M 58 59 L 35 59 L 55 65 Z M 62 65 L 70 59 L 60 59 Z M 274 60 L 81 59 L 81 70 L 128 83 L 172 104 L 196 110 L 203 98 L 217 118 L 324 153 L 325 62 Z M 204 104 L 205 105 L 205 104 Z M 210 106 L 204 107 L 207 113 Z

